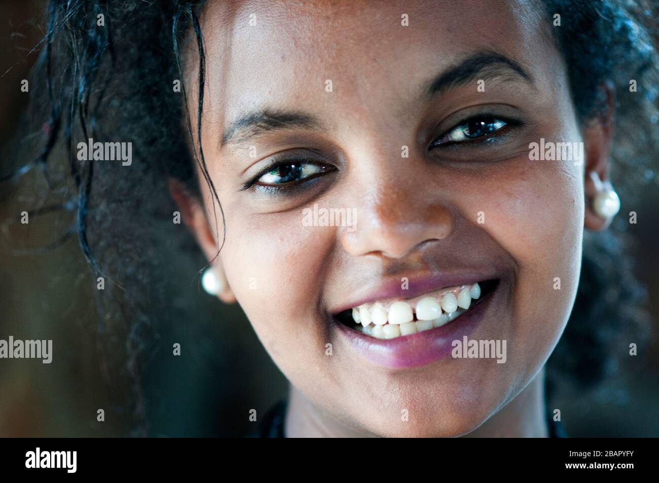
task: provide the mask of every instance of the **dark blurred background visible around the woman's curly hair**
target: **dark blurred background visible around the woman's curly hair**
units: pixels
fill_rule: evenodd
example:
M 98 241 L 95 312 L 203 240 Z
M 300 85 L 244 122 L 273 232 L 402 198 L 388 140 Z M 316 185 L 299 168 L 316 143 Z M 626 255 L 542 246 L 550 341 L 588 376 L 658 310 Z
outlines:
M 43 4 L 0 3 L 0 73 L 9 69 L 0 77 L 0 146 L 28 101 L 20 82 L 36 60 L 28 53 L 43 36 Z M 3 159 L 0 177 L 13 161 Z M 126 436 L 134 424 L 128 405 L 101 374 L 94 281 L 76 237 L 43 250 L 71 222 L 71 213 L 42 215 L 38 224 L 18 222 L 20 212 L 34 209 L 35 193 L 43 193 L 38 206 L 53 202 L 47 188 L 38 172 L 0 185 L 0 339 L 52 339 L 54 352 L 51 364 L 0 359 L 0 437 Z M 639 217 L 632 231 L 637 275 L 650 295 L 652 340 L 601 390 L 562 396 L 557 407 L 569 407 L 561 412 L 570 436 L 659 436 L 659 194 L 652 183 L 644 189 L 633 208 L 623 198 L 621 212 L 635 210 Z M 254 430 L 250 409 L 264 414 L 285 395 L 285 379 L 240 308 L 200 289 L 195 271 L 201 258 L 179 248 L 165 248 L 171 250 L 171 273 L 181 275 L 176 297 L 168 301 L 185 306 L 185 316 L 160 327 L 158 337 L 165 348 L 180 343 L 182 355 L 164 349 L 150 360 L 142 381 L 149 426 L 158 436 L 244 436 Z M 105 410 L 105 422 L 96 420 L 98 409 Z

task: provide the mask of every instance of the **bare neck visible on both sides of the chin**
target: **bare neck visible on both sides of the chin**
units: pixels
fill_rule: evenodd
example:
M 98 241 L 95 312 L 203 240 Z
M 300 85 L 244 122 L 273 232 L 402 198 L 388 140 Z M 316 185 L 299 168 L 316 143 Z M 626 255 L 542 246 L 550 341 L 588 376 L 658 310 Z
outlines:
M 547 438 L 544 370 L 512 401 L 493 414 L 467 438 Z M 287 438 L 368 438 L 366 430 L 348 426 L 318 410 L 293 385 L 285 419 Z

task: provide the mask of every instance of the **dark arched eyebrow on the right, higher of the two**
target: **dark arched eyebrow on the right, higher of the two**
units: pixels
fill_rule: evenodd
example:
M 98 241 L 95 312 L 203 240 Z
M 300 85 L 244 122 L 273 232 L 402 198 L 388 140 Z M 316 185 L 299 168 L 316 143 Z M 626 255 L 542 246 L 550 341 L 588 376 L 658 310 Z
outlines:
M 438 96 L 449 89 L 484 77 L 502 77 L 505 80 L 523 78 L 533 84 L 530 74 L 517 62 L 493 51 L 481 51 L 470 55 L 428 82 L 425 94 L 428 97 Z

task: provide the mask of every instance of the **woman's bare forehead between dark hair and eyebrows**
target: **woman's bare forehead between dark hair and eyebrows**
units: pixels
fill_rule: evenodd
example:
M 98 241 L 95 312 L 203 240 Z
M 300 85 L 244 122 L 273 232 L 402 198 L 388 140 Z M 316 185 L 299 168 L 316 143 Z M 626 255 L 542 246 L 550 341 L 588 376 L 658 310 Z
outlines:
M 375 109 L 411 99 L 474 51 L 533 74 L 550 43 L 540 22 L 539 5 L 525 0 L 211 1 L 202 12 L 208 107 L 220 125 L 260 107 Z

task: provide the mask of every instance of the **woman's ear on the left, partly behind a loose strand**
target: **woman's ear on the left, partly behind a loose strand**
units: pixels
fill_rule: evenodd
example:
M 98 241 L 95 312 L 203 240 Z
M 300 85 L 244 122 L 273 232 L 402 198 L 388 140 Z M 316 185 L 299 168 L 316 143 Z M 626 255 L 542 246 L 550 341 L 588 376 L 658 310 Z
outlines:
M 190 230 L 190 233 L 192 233 L 192 236 L 196 239 L 202 252 L 204 252 L 204 255 L 206 256 L 206 260 L 212 263 L 215 277 L 217 277 L 217 281 L 221 284 L 221 287 L 223 287 L 223 289 L 217 294 L 217 297 L 225 304 L 234 303 L 236 298 L 233 295 L 233 291 L 231 291 L 231 287 L 229 287 L 219 256 L 217 256 L 217 240 L 215 239 L 213 231 L 208 223 L 208 218 L 206 218 L 204 208 L 198 200 L 190 194 L 185 185 L 177 179 L 169 179 L 169 194 L 171 194 L 171 197 L 179 207 L 181 216 L 183 217 L 183 223 L 185 223 L 188 230 Z

